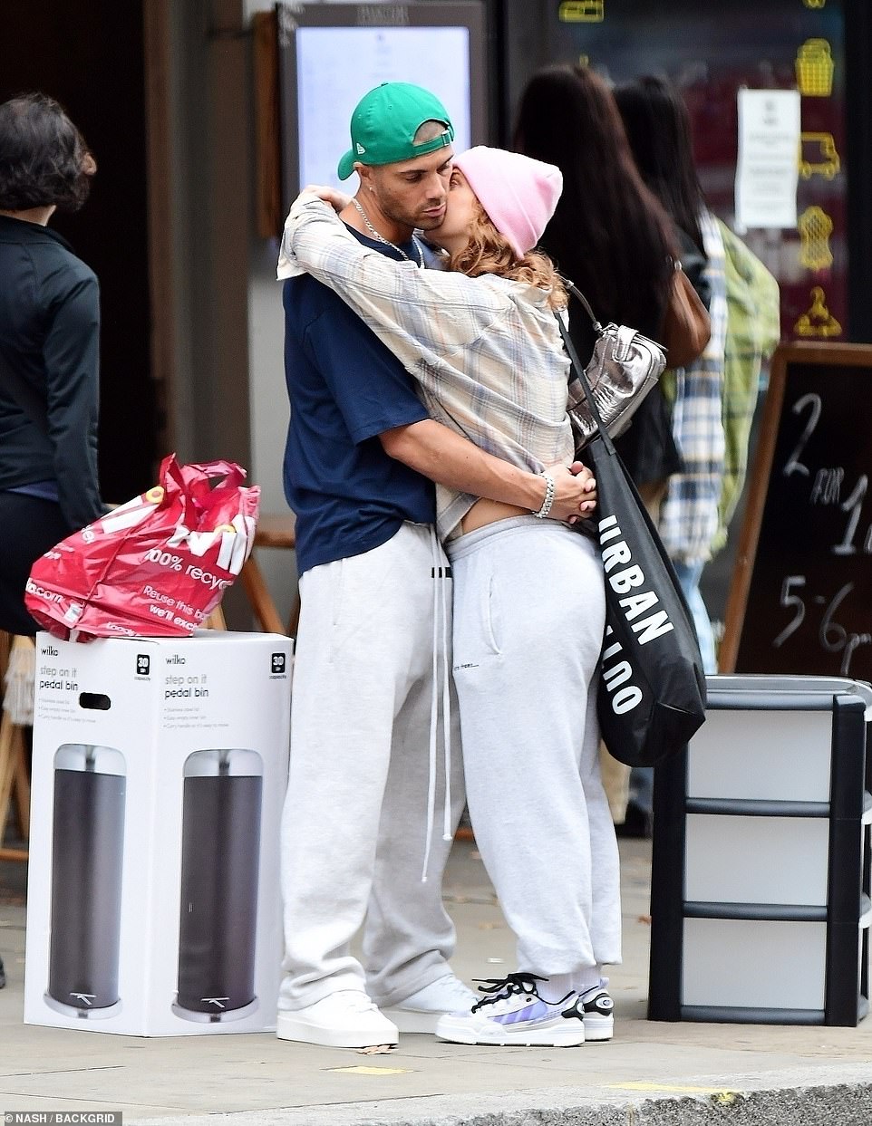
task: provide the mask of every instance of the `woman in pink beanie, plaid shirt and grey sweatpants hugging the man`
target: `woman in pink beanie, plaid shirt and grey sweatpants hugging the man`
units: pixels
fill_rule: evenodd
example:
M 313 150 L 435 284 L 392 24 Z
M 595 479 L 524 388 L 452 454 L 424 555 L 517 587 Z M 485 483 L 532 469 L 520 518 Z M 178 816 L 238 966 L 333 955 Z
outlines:
M 419 381 L 434 418 L 546 481 L 573 455 L 554 316 L 566 295 L 533 252 L 560 184 L 558 169 L 518 153 L 456 157 L 445 220 L 430 232 L 445 271 L 368 250 L 306 191 L 279 259 L 279 277 L 302 268 L 337 289 Z M 621 908 L 597 761 L 603 571 L 590 540 L 537 519 L 550 495 L 535 516 L 437 495 L 468 802 L 519 966 L 471 1011 L 441 1018 L 436 1035 L 465 1044 L 612 1036 L 602 966 L 621 959 Z

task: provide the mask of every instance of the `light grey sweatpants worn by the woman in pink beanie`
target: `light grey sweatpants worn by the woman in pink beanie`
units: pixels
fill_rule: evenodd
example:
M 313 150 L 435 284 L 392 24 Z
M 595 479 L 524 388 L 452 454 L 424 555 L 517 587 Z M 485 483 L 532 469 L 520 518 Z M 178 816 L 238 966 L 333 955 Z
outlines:
M 619 963 L 617 842 L 596 720 L 598 552 L 525 516 L 447 549 L 466 799 L 518 968 L 550 976 Z

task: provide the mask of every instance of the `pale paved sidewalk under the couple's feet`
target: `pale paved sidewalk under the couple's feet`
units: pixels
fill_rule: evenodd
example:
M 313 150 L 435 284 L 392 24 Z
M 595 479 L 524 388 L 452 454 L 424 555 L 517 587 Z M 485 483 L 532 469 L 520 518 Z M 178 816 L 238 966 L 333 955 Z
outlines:
M 408 1035 L 386 1055 L 270 1034 L 144 1039 L 25 1026 L 21 875 L 0 865 L 9 978 L 0 991 L 0 1109 L 123 1110 L 125 1126 L 871 1126 L 872 1019 L 855 1029 L 644 1019 L 650 847 L 623 841 L 621 851 L 625 960 L 612 974 L 612 1043 L 462 1047 Z M 459 975 L 511 971 L 510 933 L 469 843 L 455 847 L 446 902 Z

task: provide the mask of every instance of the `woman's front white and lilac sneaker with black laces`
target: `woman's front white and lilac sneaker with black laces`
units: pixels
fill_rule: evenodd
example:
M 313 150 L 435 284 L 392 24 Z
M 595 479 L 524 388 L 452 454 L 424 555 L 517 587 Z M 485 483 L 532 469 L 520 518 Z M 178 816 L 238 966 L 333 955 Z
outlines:
M 509 974 L 482 983 L 486 994 L 466 1012 L 441 1017 L 436 1035 L 455 1044 L 520 1044 L 575 1047 L 585 1043 L 584 1009 L 577 993 L 544 1001 L 535 974 Z

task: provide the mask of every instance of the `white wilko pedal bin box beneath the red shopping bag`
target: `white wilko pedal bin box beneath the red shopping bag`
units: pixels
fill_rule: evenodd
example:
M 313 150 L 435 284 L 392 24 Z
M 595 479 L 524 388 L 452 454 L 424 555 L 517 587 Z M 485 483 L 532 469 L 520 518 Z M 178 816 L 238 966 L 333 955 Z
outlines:
M 37 635 L 26 1024 L 275 1028 L 292 645 Z

